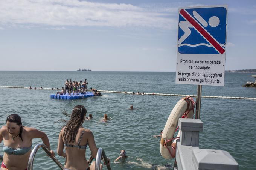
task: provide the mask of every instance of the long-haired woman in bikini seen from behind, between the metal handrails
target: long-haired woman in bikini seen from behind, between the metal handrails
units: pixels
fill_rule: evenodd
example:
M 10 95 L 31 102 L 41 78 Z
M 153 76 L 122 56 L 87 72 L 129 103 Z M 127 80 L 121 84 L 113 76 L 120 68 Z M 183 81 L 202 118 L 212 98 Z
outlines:
M 73 108 L 72 114 L 65 111 L 63 114 L 70 116 L 70 120 L 61 120 L 67 124 L 62 127 L 59 133 L 58 155 L 66 158 L 65 170 L 89 170 L 89 164 L 85 157 L 86 148 L 89 145 L 91 153 L 96 158 L 97 147 L 93 133 L 82 127 L 86 116 L 86 109 L 82 105 Z M 65 148 L 65 152 L 63 149 Z M 110 160 L 108 159 L 108 165 Z

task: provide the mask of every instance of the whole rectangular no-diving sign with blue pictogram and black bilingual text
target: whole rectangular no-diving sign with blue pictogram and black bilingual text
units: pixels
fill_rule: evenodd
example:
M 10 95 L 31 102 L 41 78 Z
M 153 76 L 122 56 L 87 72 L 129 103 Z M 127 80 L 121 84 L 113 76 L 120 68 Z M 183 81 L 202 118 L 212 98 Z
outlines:
M 224 86 L 227 5 L 179 8 L 177 84 Z

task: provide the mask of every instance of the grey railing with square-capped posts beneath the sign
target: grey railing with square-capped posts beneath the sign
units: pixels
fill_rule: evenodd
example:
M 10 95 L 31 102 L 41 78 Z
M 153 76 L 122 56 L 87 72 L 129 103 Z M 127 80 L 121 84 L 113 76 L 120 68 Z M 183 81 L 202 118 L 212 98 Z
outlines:
M 201 120 L 180 118 L 178 125 L 177 170 L 238 170 L 238 163 L 229 152 L 198 148 L 199 132 L 203 131 Z

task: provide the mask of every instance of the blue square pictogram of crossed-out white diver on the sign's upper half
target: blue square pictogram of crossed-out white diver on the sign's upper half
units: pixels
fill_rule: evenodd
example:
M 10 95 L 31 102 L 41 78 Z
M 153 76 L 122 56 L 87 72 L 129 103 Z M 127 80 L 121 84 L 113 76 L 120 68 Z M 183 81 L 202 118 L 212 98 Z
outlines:
M 224 7 L 187 8 L 179 11 L 180 54 L 224 54 L 226 51 Z

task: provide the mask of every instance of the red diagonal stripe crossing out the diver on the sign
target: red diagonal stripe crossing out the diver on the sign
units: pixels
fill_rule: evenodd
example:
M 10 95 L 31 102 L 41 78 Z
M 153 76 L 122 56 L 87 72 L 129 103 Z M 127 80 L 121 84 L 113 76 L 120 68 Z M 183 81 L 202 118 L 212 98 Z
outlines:
M 219 42 L 216 41 L 215 39 L 213 39 L 213 37 L 206 32 L 206 30 L 204 30 L 204 28 L 197 23 L 197 21 L 195 21 L 194 18 L 192 18 L 189 14 L 187 14 L 187 12 L 184 9 L 180 10 L 180 14 L 187 20 L 189 21 L 190 24 L 192 24 L 192 26 L 195 27 L 195 29 L 201 33 L 201 35 L 210 43 L 213 45 L 213 47 L 215 47 L 215 49 L 220 53 L 223 54 L 225 52 L 225 50 L 221 47 L 221 45 L 219 45 Z

